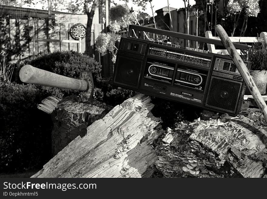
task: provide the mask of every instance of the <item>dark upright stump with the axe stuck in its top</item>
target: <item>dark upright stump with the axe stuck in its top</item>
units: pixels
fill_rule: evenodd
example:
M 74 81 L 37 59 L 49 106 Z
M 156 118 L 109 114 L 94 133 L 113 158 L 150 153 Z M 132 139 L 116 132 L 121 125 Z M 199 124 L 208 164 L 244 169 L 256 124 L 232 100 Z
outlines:
M 51 114 L 54 124 L 52 154 L 56 155 L 77 136 L 83 137 L 86 128 L 102 119 L 112 108 L 96 100 L 80 102 L 79 97 L 74 95 L 59 101 Z

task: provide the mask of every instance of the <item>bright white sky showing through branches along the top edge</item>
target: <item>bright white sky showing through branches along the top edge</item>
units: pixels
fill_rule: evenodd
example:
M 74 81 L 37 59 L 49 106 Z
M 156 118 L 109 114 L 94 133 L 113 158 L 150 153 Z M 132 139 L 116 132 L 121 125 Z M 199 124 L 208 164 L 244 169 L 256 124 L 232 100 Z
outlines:
M 31 6 L 25 5 L 23 7 L 42 9 L 42 6 L 44 6 L 44 5 L 43 4 L 39 4 L 38 0 L 34 0 L 34 1 L 36 2 L 35 5 L 31 5 Z M 70 0 L 66 0 L 66 2 L 69 2 L 69 1 Z M 114 0 L 114 2 L 117 3 L 117 4 L 125 4 L 124 1 L 122 1 L 122 0 Z M 169 0 L 169 3 L 170 3 L 170 7 L 173 7 L 173 8 L 182 8 L 182 7 L 184 7 L 184 1 L 183 0 Z M 194 5 L 195 1 L 194 0 L 189 0 L 189 3 L 190 3 L 190 5 Z M 140 10 L 140 8 L 138 8 L 138 6 L 136 6 L 136 5 L 134 5 L 131 0 L 129 0 L 128 5 L 129 5 L 129 7 L 133 7 L 134 10 Z M 153 7 L 154 13 L 155 13 L 156 10 L 158 10 L 160 8 L 163 8 L 163 7 L 167 6 L 167 5 L 168 5 L 167 0 L 153 0 L 152 1 L 152 6 L 154 6 Z M 112 6 L 112 4 L 111 4 L 111 6 Z M 147 9 L 144 12 L 146 12 L 150 16 L 152 16 L 152 11 L 151 11 L 149 3 L 147 4 Z

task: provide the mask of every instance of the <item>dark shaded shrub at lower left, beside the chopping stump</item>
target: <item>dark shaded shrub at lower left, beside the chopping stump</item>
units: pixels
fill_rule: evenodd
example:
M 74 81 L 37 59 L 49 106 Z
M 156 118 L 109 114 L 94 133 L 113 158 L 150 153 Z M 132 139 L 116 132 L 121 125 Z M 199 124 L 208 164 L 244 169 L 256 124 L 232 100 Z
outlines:
M 41 168 L 51 158 L 51 116 L 37 109 L 52 93 L 36 85 L 0 87 L 0 170 Z

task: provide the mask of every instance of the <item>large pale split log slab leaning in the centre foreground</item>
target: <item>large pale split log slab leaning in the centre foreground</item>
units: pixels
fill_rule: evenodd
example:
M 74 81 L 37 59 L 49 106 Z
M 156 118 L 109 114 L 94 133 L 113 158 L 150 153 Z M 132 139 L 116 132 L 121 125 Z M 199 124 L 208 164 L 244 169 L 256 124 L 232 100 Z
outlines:
M 162 133 L 153 107 L 143 94 L 127 99 L 32 177 L 150 177 L 157 159 L 152 144 Z

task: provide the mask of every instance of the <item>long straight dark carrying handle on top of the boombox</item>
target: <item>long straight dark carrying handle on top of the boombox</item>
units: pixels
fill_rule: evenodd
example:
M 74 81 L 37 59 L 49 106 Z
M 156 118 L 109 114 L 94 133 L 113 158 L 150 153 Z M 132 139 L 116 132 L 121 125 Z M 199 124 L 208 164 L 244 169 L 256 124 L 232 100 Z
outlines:
M 130 30 L 131 29 L 223 46 L 223 44 L 221 43 L 221 40 L 217 40 L 217 39 L 210 39 L 210 38 L 205 38 L 205 37 L 188 35 L 188 34 L 184 34 L 184 33 L 180 33 L 180 32 L 173 32 L 173 31 L 169 31 L 169 30 L 161 30 L 161 29 L 157 29 L 157 28 L 150 28 L 150 27 L 146 27 L 146 26 L 132 25 L 132 24 L 129 25 L 129 31 L 128 31 L 127 37 L 130 37 Z M 249 45 L 245 45 L 245 44 L 233 43 L 233 45 L 235 46 L 235 48 L 242 49 L 242 50 L 249 50 L 249 48 L 250 48 Z

